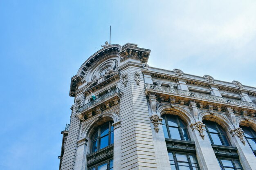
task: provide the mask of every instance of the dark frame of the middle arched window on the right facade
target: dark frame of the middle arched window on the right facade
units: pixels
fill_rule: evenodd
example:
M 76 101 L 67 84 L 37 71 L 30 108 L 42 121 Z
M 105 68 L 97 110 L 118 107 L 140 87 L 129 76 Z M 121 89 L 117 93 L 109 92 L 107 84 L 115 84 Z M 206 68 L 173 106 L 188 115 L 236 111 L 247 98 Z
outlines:
M 205 123 L 205 122 L 209 122 L 209 123 L 213 124 L 216 127 L 216 130 L 218 132 L 210 132 L 208 127 L 207 127 L 207 123 Z M 219 146 L 232 146 L 231 142 L 229 141 L 229 138 L 227 136 L 227 133 L 225 132 L 224 128 L 222 128 L 219 124 L 217 124 L 214 121 L 208 121 L 208 120 L 207 121 L 203 121 L 203 124 L 205 124 L 205 129 L 206 129 L 207 135 L 208 135 L 212 145 L 218 145 L 218 144 L 214 144 L 213 139 L 211 137 L 211 134 L 216 134 L 216 135 L 218 135 L 218 137 L 220 139 L 220 142 L 222 143 L 222 145 L 219 145 Z M 220 129 L 222 129 L 222 130 L 220 130 Z M 225 133 L 222 133 L 221 131 L 223 131 Z M 225 140 L 223 139 L 222 135 L 226 136 L 227 142 L 228 142 L 229 145 L 225 145 L 225 142 L 224 142 Z

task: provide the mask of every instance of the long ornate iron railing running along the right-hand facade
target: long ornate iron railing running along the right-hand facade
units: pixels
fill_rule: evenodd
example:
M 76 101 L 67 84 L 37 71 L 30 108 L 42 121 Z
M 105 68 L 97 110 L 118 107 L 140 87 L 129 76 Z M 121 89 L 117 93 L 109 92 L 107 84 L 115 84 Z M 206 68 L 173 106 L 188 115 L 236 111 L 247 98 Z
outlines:
M 199 98 L 199 99 L 207 99 L 215 102 L 222 102 L 225 104 L 236 104 L 238 106 L 247 106 L 247 107 L 252 107 L 256 109 L 256 104 L 251 103 L 251 102 L 245 102 L 241 101 L 238 99 L 230 99 L 227 97 L 218 97 L 218 96 L 213 96 L 213 95 L 208 95 L 204 93 L 198 93 L 198 92 L 192 92 L 192 91 L 184 91 L 184 90 L 179 90 L 176 88 L 170 88 L 170 87 L 164 87 L 164 86 L 157 86 L 153 84 L 145 84 L 146 89 L 154 89 L 156 91 L 162 91 L 162 92 L 167 92 L 167 93 L 174 93 L 176 95 L 184 95 L 192 98 Z

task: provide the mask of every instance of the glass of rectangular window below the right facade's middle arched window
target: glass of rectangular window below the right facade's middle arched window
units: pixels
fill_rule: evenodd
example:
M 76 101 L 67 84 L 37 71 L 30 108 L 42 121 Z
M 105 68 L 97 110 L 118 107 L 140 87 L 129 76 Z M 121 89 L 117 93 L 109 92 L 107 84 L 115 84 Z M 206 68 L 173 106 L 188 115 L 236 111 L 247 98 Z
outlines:
M 240 162 L 236 159 L 220 159 L 218 158 L 221 170 L 243 170 Z

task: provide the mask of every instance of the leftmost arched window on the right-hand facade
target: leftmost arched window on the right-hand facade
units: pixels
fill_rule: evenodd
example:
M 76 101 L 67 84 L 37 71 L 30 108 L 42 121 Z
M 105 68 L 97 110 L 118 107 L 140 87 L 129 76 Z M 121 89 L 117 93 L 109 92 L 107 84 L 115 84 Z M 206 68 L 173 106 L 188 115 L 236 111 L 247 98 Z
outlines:
M 164 115 L 162 124 L 165 138 L 190 141 L 186 124 L 178 116 Z

